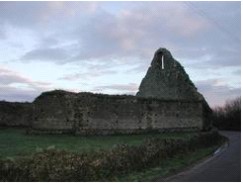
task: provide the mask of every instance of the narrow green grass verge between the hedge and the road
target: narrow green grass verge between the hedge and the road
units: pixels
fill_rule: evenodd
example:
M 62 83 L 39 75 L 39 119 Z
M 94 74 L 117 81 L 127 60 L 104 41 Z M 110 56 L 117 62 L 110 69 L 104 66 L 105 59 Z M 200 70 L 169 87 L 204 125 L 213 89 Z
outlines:
M 150 168 L 142 172 L 133 172 L 129 175 L 125 175 L 122 177 L 117 177 L 117 180 L 115 181 L 154 182 L 157 181 L 157 179 L 173 175 L 176 172 L 179 172 L 180 170 L 183 170 L 186 167 L 198 162 L 199 160 L 210 156 L 216 149 L 217 146 L 213 146 L 205 149 L 198 149 L 195 152 L 189 154 L 178 155 L 174 158 L 165 160 L 163 164 L 159 167 Z

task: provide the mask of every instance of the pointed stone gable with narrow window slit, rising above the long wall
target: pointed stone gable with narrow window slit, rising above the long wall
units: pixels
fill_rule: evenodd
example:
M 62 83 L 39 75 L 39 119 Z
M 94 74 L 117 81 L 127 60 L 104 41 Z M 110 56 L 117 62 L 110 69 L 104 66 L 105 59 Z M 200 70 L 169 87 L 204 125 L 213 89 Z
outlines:
M 151 66 L 140 84 L 137 96 L 204 100 L 184 68 L 165 48 L 159 48 L 155 52 Z

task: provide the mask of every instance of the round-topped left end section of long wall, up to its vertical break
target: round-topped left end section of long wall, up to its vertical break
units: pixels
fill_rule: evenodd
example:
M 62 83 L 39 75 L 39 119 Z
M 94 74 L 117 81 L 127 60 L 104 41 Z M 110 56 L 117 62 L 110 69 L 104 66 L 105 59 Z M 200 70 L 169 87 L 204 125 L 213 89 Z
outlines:
M 74 99 L 70 92 L 47 92 L 33 103 L 31 127 L 52 132 L 70 132 L 74 127 Z

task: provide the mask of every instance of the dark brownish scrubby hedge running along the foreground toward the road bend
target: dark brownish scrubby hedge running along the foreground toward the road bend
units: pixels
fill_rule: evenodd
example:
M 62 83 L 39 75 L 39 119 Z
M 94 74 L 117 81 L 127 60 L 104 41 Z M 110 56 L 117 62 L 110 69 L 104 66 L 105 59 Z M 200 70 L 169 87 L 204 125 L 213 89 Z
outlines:
M 159 166 L 177 154 L 223 141 L 212 131 L 187 140 L 149 138 L 140 146 L 117 145 L 89 154 L 44 150 L 31 157 L 0 160 L 0 181 L 114 181 L 116 176 Z

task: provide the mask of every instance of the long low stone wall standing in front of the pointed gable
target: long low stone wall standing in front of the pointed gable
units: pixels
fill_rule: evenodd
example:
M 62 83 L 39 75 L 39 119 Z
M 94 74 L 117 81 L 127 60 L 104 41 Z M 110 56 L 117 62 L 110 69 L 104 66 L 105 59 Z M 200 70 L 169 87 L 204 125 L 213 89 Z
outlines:
M 34 102 L 33 132 L 113 134 L 150 130 L 201 130 L 203 104 L 53 91 Z

